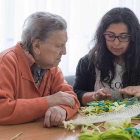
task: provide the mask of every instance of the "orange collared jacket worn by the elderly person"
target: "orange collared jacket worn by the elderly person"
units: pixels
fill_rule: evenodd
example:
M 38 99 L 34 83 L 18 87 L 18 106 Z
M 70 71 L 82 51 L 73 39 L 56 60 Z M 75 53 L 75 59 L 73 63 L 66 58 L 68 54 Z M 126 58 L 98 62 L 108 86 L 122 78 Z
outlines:
M 47 71 L 38 89 L 19 43 L 0 53 L 0 124 L 19 124 L 44 117 L 49 107 L 45 96 L 58 91 L 75 95 L 74 109 L 61 105 L 69 119 L 80 105 L 58 67 Z

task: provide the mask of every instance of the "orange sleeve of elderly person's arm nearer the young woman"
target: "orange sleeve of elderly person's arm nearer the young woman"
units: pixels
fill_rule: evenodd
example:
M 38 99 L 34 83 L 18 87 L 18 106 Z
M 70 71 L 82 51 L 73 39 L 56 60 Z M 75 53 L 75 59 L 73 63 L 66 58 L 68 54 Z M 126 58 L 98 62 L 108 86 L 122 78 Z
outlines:
M 54 78 L 53 78 L 52 87 L 51 87 L 51 94 L 55 94 L 59 91 L 63 91 L 63 92 L 74 95 L 74 99 L 75 99 L 74 109 L 69 106 L 60 105 L 62 108 L 64 108 L 67 111 L 66 119 L 68 120 L 78 111 L 80 107 L 80 103 L 77 99 L 77 95 L 73 91 L 72 86 L 68 85 L 67 82 L 64 80 L 63 73 L 58 67 L 53 75 L 54 75 Z

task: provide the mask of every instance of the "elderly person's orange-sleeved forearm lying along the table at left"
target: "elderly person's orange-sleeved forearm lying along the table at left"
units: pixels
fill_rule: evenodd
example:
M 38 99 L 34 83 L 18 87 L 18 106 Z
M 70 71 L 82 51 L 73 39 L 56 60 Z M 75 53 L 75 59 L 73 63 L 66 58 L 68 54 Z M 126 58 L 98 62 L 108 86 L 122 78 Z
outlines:
M 20 124 L 34 121 L 44 117 L 48 109 L 45 97 L 4 100 L 0 101 L 0 124 Z

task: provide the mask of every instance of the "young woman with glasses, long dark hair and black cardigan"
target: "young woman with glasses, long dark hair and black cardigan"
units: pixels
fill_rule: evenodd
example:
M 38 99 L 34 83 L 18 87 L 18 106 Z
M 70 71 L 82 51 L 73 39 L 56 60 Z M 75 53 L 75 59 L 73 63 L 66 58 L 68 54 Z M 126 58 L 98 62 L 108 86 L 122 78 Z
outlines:
M 108 11 L 94 46 L 80 59 L 74 90 L 81 105 L 97 100 L 140 97 L 140 25 L 128 8 Z

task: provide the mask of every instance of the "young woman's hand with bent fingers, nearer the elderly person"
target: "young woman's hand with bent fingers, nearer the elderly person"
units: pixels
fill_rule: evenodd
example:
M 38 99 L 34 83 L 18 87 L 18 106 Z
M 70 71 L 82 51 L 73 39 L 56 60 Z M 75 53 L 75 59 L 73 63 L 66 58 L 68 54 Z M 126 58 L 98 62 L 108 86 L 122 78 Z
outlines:
M 93 94 L 93 98 L 95 101 L 107 100 L 110 97 L 111 97 L 111 93 L 107 88 L 99 89 L 97 92 Z

